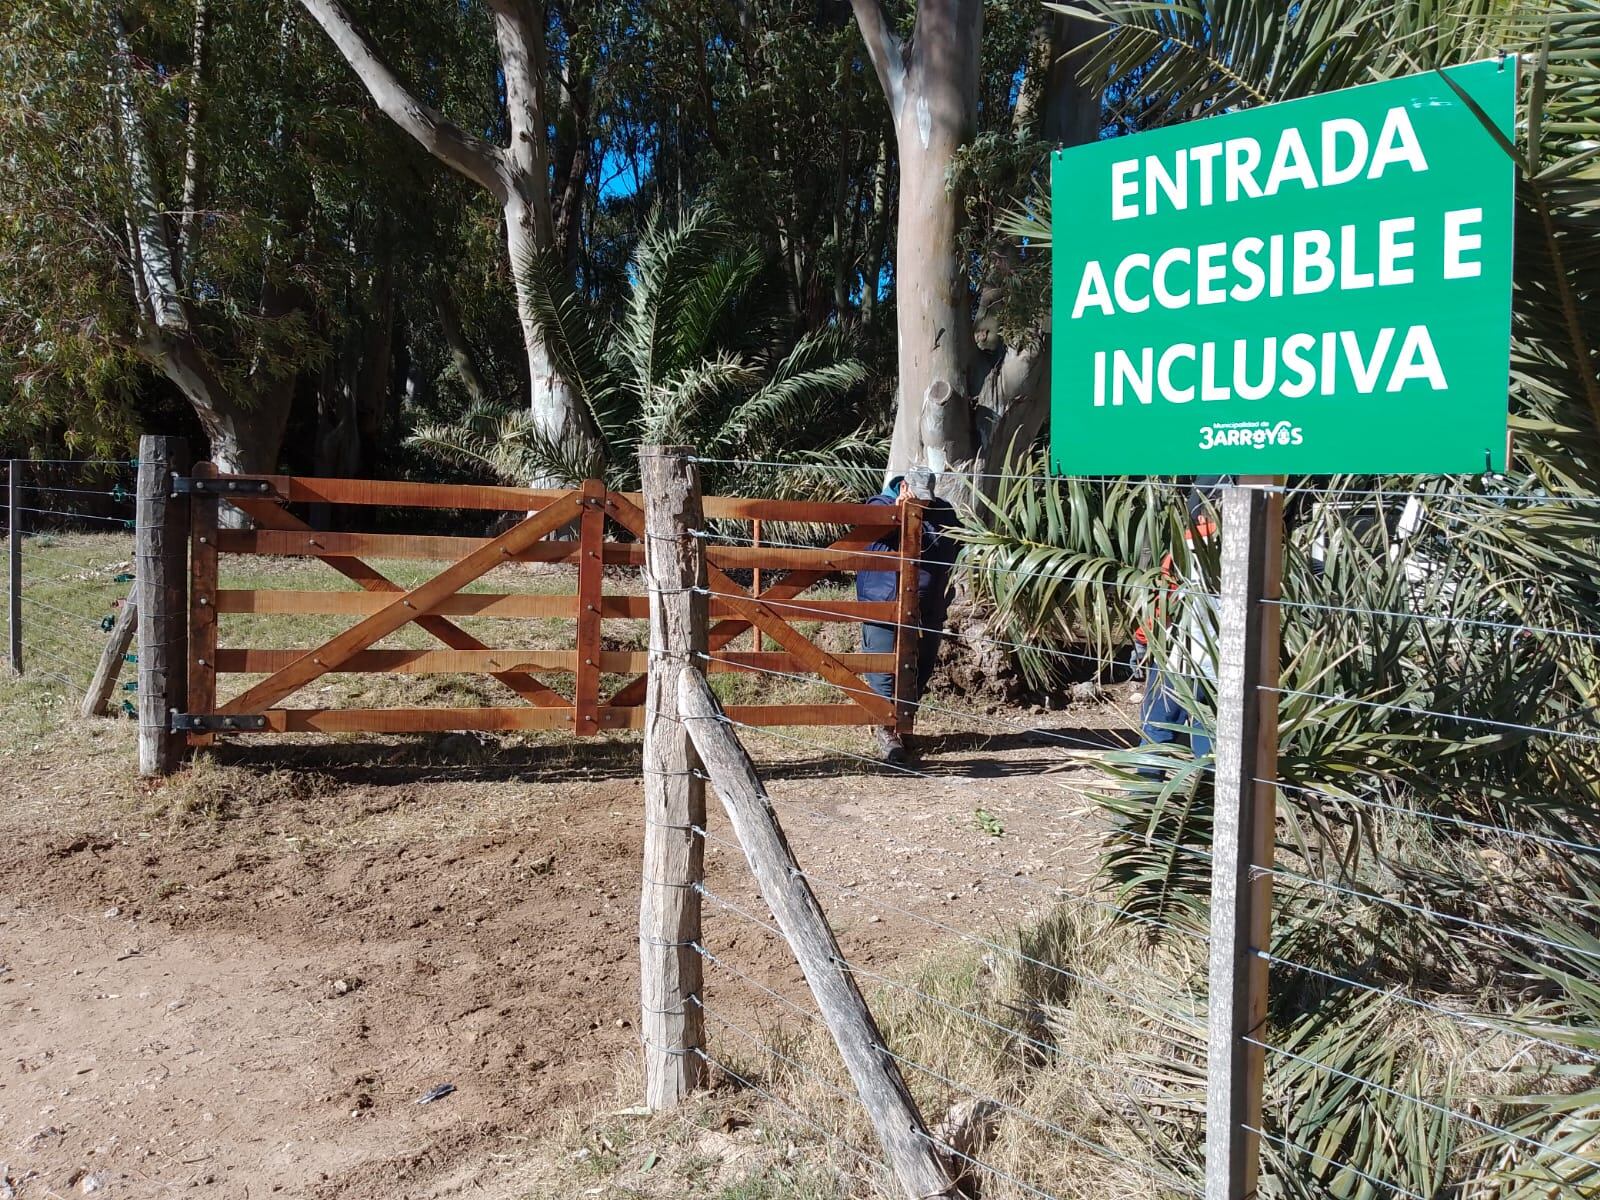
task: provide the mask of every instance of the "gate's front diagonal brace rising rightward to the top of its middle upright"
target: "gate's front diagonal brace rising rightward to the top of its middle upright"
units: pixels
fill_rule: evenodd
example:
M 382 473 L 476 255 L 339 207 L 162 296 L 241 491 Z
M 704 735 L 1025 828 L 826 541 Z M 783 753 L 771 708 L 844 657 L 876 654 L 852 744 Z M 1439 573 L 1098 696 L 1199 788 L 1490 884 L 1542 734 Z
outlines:
M 466 558 L 451 563 L 426 584 L 410 592 L 402 592 L 392 603 L 378 610 L 365 621 L 358 621 L 315 650 L 306 651 L 306 654 L 290 666 L 230 699 L 219 712 L 229 717 L 259 712 L 312 680 L 338 669 L 350 654 L 366 650 L 373 642 L 387 637 L 419 616 L 426 616 L 427 610 L 445 597 L 454 595 L 474 579 L 493 571 L 510 555 L 526 549 L 547 533 L 562 528 L 579 515 L 581 507 L 578 496 L 563 496 L 542 512 L 522 520 L 506 533 L 490 539 Z

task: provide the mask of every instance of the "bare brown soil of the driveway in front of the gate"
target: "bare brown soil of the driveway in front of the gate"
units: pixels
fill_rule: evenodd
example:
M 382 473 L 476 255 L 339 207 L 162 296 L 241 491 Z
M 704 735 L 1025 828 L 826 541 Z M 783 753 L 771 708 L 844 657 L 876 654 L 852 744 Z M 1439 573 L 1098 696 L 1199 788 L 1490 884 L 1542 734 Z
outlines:
M 1002 722 L 925 739 L 931 781 L 859 733 L 752 736 L 853 962 L 1082 885 L 1067 747 L 1126 712 Z M 0 760 L 0 1197 L 573 1194 L 530 1147 L 638 1091 L 637 742 L 258 742 L 146 792 L 125 726 Z M 712 806 L 706 946 L 803 998 Z M 707 997 L 776 1003 L 715 973 Z

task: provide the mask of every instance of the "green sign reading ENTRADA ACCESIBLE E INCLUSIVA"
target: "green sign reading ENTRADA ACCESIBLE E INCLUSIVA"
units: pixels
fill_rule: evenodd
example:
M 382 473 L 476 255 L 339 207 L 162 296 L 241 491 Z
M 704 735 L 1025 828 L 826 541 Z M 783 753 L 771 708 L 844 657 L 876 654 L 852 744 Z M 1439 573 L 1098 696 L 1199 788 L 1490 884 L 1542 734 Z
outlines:
M 1517 62 L 1445 74 L 1056 154 L 1056 470 L 1504 469 Z

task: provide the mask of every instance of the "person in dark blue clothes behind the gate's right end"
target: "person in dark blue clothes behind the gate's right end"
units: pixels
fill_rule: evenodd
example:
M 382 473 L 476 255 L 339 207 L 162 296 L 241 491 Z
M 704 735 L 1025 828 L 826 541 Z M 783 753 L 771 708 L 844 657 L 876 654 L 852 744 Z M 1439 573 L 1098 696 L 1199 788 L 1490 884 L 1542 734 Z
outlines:
M 933 472 L 926 467 L 914 467 L 906 475 L 894 475 L 888 486 L 867 504 L 899 504 L 901 498 L 910 496 L 923 502 L 922 518 L 922 552 L 917 565 L 917 629 L 910 630 L 917 638 L 917 691 L 910 699 L 922 699 L 923 688 L 933 675 L 933 667 L 939 659 L 939 643 L 944 637 L 944 618 L 950 606 L 950 565 L 960 549 L 954 538 L 944 533 L 955 525 L 955 509 L 949 502 L 933 494 Z M 867 547 L 869 552 L 899 550 L 899 531 L 893 530 L 880 541 Z M 894 600 L 899 595 L 899 571 L 858 571 L 858 600 Z M 894 626 L 864 622 L 861 626 L 861 650 L 867 654 L 894 653 Z M 869 672 L 867 686 L 885 699 L 894 698 L 894 675 L 890 672 Z M 904 763 L 906 746 L 899 734 L 888 726 L 875 731 L 878 755 L 886 763 Z

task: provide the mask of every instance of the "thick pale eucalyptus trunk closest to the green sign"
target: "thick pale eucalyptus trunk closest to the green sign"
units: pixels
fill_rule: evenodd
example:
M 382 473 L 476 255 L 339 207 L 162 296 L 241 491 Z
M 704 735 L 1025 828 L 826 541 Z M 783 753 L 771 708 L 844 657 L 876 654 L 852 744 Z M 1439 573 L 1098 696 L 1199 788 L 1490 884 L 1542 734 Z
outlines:
M 901 42 L 882 0 L 851 0 L 894 123 L 899 165 L 894 306 L 899 403 L 890 474 L 928 466 L 960 493 L 1024 454 L 1048 411 L 1048 318 L 1008 346 L 973 336 L 974 296 L 960 251 L 962 197 L 950 168 L 978 130 L 981 0 L 918 0 Z M 1058 142 L 1091 139 L 1098 109 L 1064 56 L 1086 30 L 1051 14 L 1029 67 L 1024 120 Z

